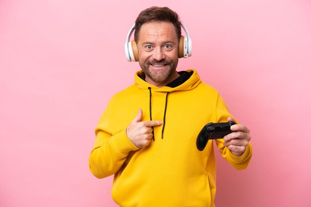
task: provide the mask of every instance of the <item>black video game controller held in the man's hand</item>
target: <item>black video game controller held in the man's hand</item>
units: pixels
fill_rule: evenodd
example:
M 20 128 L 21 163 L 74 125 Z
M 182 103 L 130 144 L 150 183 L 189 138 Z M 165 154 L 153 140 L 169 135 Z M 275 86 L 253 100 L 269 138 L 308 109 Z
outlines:
M 207 142 L 214 139 L 223 139 L 227 134 L 232 133 L 230 129 L 232 125 L 236 124 L 234 121 L 222 123 L 208 123 L 206 124 L 197 138 L 197 148 L 199 151 L 204 150 Z

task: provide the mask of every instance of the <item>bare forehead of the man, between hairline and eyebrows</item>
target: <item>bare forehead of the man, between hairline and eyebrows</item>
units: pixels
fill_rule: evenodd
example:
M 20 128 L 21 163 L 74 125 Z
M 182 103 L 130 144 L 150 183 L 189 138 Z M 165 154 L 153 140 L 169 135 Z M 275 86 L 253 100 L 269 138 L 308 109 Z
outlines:
M 141 27 L 138 42 L 178 42 L 177 33 L 171 22 L 148 22 Z

